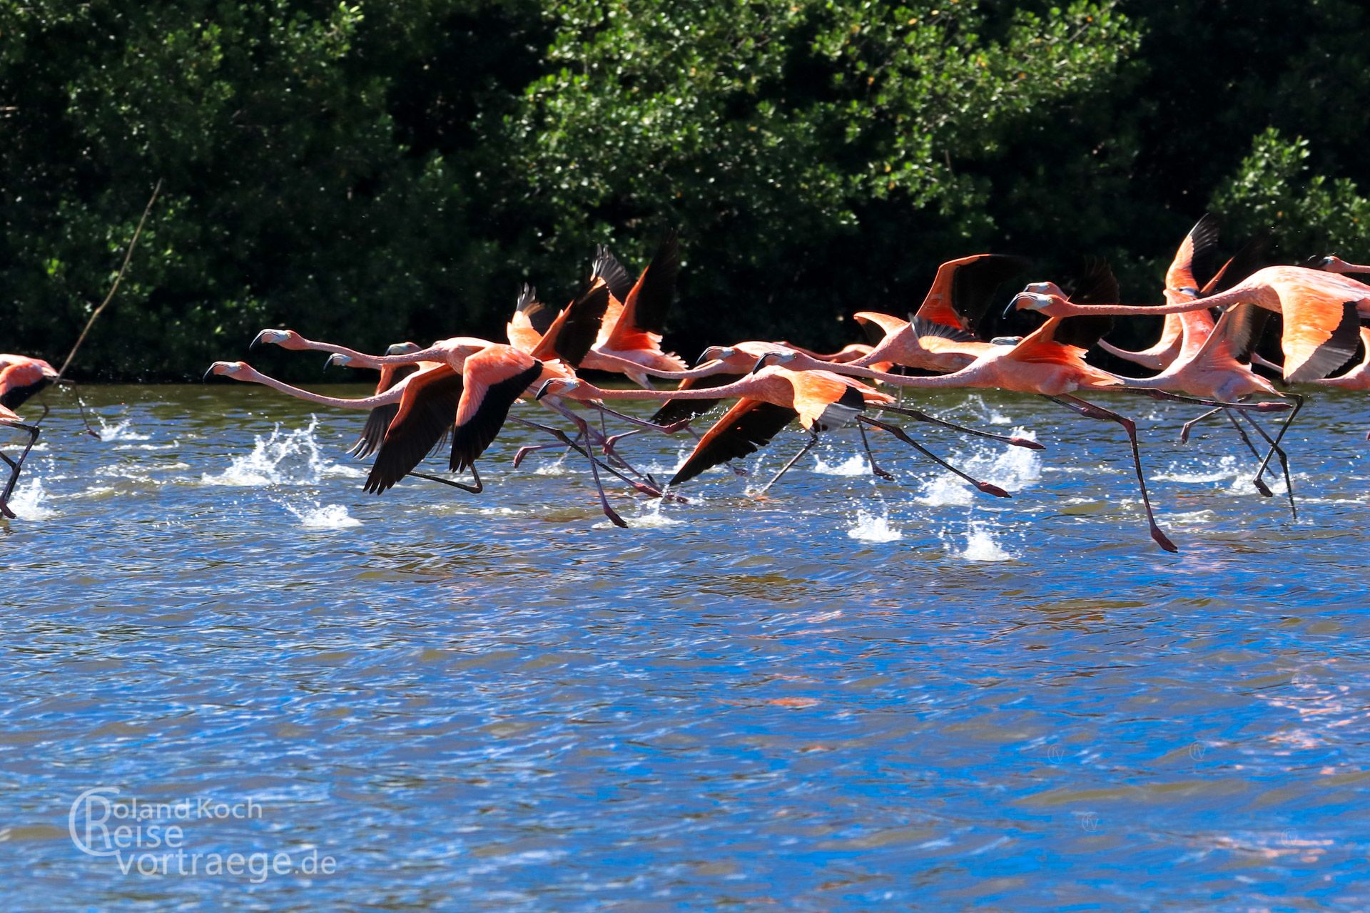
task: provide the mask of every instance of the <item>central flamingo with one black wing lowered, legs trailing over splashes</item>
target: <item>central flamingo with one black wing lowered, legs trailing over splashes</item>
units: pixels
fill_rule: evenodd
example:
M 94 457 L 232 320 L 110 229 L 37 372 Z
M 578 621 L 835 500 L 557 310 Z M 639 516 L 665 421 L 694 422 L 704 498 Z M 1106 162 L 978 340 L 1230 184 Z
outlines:
M 796 357 L 797 352 L 790 352 Z M 815 364 L 823 364 L 817 363 Z M 903 428 L 886 424 L 878 419 L 862 415 L 867 407 L 903 412 L 893 407 L 895 397 L 881 393 L 851 378 L 844 378 L 827 371 L 789 371 L 788 368 L 773 367 L 759 370 L 754 374 L 732 383 L 706 390 L 603 390 L 581 379 L 551 379 L 537 391 L 538 398 L 545 396 L 560 396 L 573 400 L 690 400 L 690 398 L 737 398 L 738 402 L 710 428 L 695 450 L 667 482 L 667 487 L 680 485 L 695 478 L 704 470 L 732 460 L 738 456 L 755 453 L 767 443 L 781 428 L 796 417 L 810 439 L 804 448 L 781 468 L 775 476 L 766 483 L 760 493 L 767 491 L 775 482 L 789 471 L 795 463 L 807 453 L 817 442 L 822 431 L 840 428 L 852 422 L 858 422 L 864 441 L 864 428 L 870 426 L 893 434 L 908 443 L 923 456 L 932 459 L 938 465 L 955 472 L 977 489 L 996 497 L 1008 497 L 1008 493 L 999 486 L 973 479 L 960 470 L 952 467 L 941 457 L 934 456 L 921 443 L 910 438 Z M 1036 441 L 1026 438 L 1007 438 L 996 434 L 978 431 L 982 437 L 993 438 L 1025 446 L 1041 449 Z M 867 442 L 867 453 L 870 446 Z

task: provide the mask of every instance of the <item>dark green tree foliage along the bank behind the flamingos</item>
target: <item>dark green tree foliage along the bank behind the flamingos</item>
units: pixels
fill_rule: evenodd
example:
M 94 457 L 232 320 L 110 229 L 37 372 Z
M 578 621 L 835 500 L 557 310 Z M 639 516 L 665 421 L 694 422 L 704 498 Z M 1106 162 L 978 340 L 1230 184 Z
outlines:
M 570 298 L 593 244 L 640 267 L 667 224 L 688 355 L 845 342 L 980 249 L 1038 278 L 1107 256 L 1155 300 L 1208 201 L 1234 241 L 1363 257 L 1367 26 L 1352 0 L 1297 27 L 1277 0 L 0 0 L 0 350 L 66 353 L 159 179 L 88 376 L 196 375 L 267 324 L 499 338 L 516 282 Z

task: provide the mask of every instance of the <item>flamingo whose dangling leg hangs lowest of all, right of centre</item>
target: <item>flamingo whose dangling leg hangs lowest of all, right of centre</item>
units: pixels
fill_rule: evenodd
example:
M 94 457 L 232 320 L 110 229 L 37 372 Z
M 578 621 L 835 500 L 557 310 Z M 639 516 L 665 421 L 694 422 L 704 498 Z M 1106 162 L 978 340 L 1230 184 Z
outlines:
M 1064 298 L 1060 298 L 1064 301 Z M 832 365 L 812 359 L 806 359 L 797 352 L 770 353 L 758 361 L 758 367 L 766 364 L 784 364 L 799 371 L 827 370 L 838 374 L 852 374 L 858 376 L 882 381 L 892 386 L 906 386 L 918 389 L 936 387 L 985 387 L 1014 390 L 1019 393 L 1037 393 L 1052 402 L 1066 407 L 1088 419 L 1101 422 L 1117 422 L 1128 433 L 1128 442 L 1132 445 L 1133 468 L 1137 474 L 1137 485 L 1141 490 L 1141 502 L 1147 512 L 1147 526 L 1151 538 L 1166 552 L 1178 552 L 1178 548 L 1156 524 L 1156 517 L 1151 509 L 1151 497 L 1147 491 L 1147 479 L 1141 470 L 1141 452 L 1137 443 L 1136 423 L 1117 412 L 1106 409 L 1093 402 L 1073 396 L 1077 390 L 1123 390 L 1125 378 L 1119 378 L 1101 368 L 1086 363 L 1085 349 L 1059 342 L 1055 335 L 1063 318 L 1051 318 L 1033 333 L 1023 337 L 1017 345 L 997 345 L 993 350 L 977 359 L 970 367 L 952 374 L 932 378 L 910 378 L 896 374 L 873 371 L 855 364 Z M 1137 390 L 1147 396 L 1166 400 L 1180 400 L 1184 402 L 1203 402 L 1217 405 L 1207 400 L 1195 400 L 1162 390 Z M 1285 402 L 1255 402 L 1255 404 L 1225 404 L 1233 408 L 1254 409 L 1259 412 L 1288 409 Z

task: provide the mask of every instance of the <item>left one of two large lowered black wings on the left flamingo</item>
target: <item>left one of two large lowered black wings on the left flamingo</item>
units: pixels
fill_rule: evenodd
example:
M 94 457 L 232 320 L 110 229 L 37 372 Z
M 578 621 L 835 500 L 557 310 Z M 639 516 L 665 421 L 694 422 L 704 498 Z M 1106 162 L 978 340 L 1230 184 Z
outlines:
M 379 494 L 423 461 L 452 427 L 462 387 L 462 375 L 447 364 L 410 378 L 363 490 Z

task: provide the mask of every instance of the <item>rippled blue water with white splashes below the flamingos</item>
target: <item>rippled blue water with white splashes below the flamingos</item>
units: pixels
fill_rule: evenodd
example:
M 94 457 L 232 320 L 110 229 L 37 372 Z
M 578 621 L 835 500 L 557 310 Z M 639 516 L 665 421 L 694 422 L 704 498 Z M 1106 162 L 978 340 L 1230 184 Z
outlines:
M 1178 556 L 1119 430 L 1025 397 L 926 402 L 1041 453 L 917 428 L 1011 500 L 878 433 L 896 482 L 848 475 L 837 435 L 747 497 L 790 431 L 690 504 L 612 487 L 618 530 L 578 454 L 508 468 L 522 433 L 482 496 L 373 497 L 356 413 L 230 383 L 85 396 L 118 434 L 75 434 L 55 394 L 0 522 L 11 909 L 1370 905 L 1354 394 L 1291 433 L 1297 522 L 1240 483 L 1230 428 L 1177 446 L 1192 412 L 1108 398 L 1155 416 Z M 682 449 L 622 446 L 655 471 Z M 251 799 L 181 823 L 238 873 L 82 854 L 95 787 L 86 823 Z M 292 871 L 247 868 L 278 851 Z

